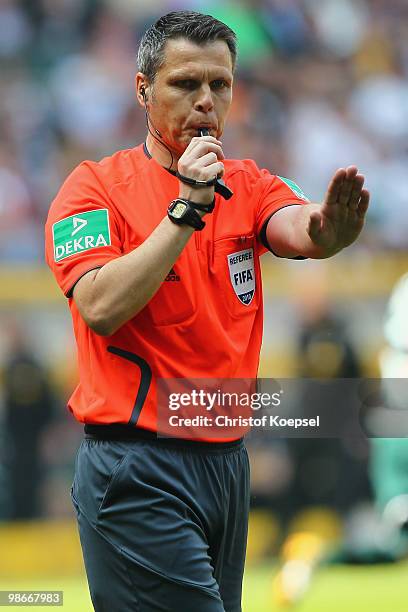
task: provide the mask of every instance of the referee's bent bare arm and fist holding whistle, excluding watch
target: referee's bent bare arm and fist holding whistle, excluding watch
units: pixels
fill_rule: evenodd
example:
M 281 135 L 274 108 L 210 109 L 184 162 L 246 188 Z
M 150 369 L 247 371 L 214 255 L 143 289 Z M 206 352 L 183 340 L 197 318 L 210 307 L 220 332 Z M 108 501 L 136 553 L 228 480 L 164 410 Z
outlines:
M 152 142 L 150 142 L 152 146 Z M 208 181 L 222 175 L 221 142 L 212 136 L 195 137 L 178 160 L 183 176 Z M 209 206 L 214 187 L 180 183 L 179 197 Z M 200 217 L 207 211 L 197 211 Z M 85 274 L 74 288 L 74 300 L 85 322 L 97 334 L 110 336 L 146 306 L 194 233 L 187 224 L 165 217 L 131 253 Z

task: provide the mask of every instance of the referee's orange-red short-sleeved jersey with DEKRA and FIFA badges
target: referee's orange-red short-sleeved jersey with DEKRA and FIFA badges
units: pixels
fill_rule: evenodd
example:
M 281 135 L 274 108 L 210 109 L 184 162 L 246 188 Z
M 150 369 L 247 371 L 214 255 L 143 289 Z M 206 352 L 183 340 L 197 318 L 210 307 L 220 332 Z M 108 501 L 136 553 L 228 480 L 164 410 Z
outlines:
M 178 196 L 175 176 L 142 145 L 80 164 L 53 201 L 46 259 L 68 297 L 79 384 L 68 407 L 84 423 L 156 430 L 157 378 L 255 378 L 263 329 L 259 257 L 268 218 L 304 204 L 295 184 L 251 160 L 225 161 L 233 197 L 195 232 L 157 293 L 109 337 L 93 332 L 72 298 L 89 270 L 137 248 Z

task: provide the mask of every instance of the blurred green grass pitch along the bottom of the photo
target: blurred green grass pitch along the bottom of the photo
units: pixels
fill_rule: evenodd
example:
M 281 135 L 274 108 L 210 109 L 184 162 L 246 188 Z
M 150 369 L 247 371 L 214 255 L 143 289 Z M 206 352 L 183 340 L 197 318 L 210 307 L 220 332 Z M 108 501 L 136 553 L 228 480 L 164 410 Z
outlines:
M 272 602 L 271 580 L 274 568 L 262 565 L 248 568 L 244 587 L 244 612 L 281 612 Z M 0 590 L 63 590 L 65 612 L 92 612 L 84 577 L 52 580 L 13 580 L 0 578 Z M 16 610 L 5 606 L 2 610 Z M 27 610 L 24 606 L 20 609 Z M 50 607 L 36 606 L 35 610 Z M 286 610 L 288 610 L 286 608 Z M 370 567 L 326 567 L 317 572 L 305 599 L 291 608 L 295 612 L 407 612 L 408 563 Z M 112 611 L 116 612 L 116 611 Z M 119 611 L 118 611 L 119 612 Z M 175 611 L 176 612 L 176 611 Z M 177 611 L 179 612 L 179 611 Z M 185 611 L 188 612 L 186 608 Z

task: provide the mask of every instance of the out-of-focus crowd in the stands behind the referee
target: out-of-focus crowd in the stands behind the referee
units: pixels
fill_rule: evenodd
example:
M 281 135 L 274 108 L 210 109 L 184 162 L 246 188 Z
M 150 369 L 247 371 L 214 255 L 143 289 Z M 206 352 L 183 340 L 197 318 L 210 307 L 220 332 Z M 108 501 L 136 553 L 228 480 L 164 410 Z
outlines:
M 211 12 L 239 36 L 228 154 L 292 177 L 313 199 L 336 166 L 356 163 L 374 196 L 359 248 L 405 248 L 405 0 L 3 0 L 0 226 L 16 237 L 3 229 L 2 261 L 41 261 L 44 216 L 65 176 L 140 142 L 137 40 L 180 8 Z

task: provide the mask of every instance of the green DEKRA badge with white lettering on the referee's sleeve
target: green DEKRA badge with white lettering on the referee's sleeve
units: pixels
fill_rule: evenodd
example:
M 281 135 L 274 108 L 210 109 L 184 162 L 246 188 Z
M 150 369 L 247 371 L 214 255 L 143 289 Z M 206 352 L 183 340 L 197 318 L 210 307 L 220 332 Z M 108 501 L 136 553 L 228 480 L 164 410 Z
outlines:
M 110 246 L 108 210 L 89 210 L 57 221 L 52 226 L 52 239 L 56 262 L 90 249 Z

